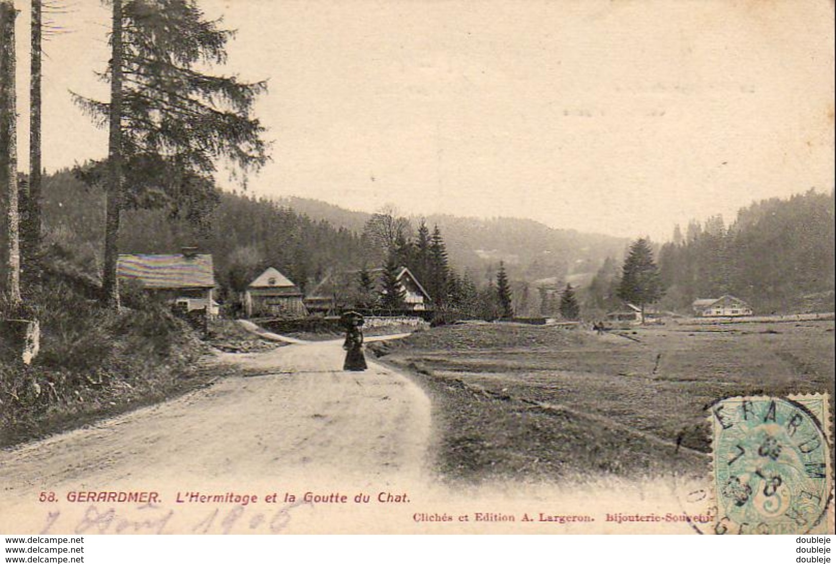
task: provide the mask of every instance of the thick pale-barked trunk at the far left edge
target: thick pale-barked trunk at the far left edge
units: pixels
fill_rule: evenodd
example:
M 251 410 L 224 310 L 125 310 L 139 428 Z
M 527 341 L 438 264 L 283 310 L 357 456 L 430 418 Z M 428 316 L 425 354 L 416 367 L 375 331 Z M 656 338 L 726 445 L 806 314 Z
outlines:
M 0 0 L 0 179 L 7 192 L 8 257 L 6 292 L 10 304 L 18 306 L 20 297 L 20 218 L 18 216 L 18 139 L 15 85 L 13 0 Z

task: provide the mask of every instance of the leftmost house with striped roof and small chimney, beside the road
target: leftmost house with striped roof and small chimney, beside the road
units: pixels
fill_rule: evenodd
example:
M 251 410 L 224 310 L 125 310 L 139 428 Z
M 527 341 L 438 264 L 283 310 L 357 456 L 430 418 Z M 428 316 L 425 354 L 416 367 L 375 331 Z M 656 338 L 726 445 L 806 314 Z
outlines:
M 175 255 L 120 255 L 116 276 L 121 282 L 136 282 L 146 291 L 187 312 L 204 311 L 217 315 L 212 299 L 215 275 L 212 255 L 199 254 L 186 247 Z M 208 309 L 206 305 L 209 305 Z

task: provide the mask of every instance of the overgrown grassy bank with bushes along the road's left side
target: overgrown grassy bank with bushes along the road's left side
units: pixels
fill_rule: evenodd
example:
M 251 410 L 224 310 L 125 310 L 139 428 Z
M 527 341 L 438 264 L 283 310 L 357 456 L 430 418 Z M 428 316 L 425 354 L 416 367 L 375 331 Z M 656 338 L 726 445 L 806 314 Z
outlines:
M 213 363 L 209 344 L 165 307 L 125 298 L 128 307 L 115 312 L 57 278 L 27 297 L 41 353 L 30 366 L 0 363 L 0 447 L 165 401 L 235 370 Z

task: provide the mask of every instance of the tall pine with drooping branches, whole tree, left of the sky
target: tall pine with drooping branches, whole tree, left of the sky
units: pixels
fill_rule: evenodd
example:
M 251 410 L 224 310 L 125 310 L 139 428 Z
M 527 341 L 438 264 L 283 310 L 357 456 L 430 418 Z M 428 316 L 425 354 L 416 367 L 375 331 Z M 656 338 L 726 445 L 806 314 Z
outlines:
M 110 103 L 76 96 L 97 124 L 109 124 L 103 297 L 119 305 L 116 258 L 126 204 L 217 198 L 223 159 L 246 174 L 268 159 L 251 115 L 263 82 L 206 74 L 226 62 L 232 32 L 204 18 L 194 0 L 112 0 L 111 58 L 102 78 Z M 127 192 L 124 170 L 131 170 Z M 140 193 L 137 193 L 140 191 Z

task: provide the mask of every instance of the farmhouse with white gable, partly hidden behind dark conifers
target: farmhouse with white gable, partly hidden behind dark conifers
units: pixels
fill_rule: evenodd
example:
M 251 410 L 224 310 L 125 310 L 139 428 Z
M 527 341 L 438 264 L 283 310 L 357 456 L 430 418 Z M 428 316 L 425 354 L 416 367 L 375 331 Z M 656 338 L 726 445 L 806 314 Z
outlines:
M 383 268 L 368 271 L 371 291 L 380 297 L 383 292 Z M 407 267 L 400 267 L 396 277 L 404 292 L 404 309 L 399 314 L 422 315 L 432 311 L 430 294 Z M 329 274 L 319 282 L 308 297 L 304 298 L 308 311 L 319 315 L 334 315 L 345 308 L 364 309 L 369 297 L 363 296 L 360 286 L 360 271 L 345 271 Z M 395 312 L 393 312 L 395 313 Z

